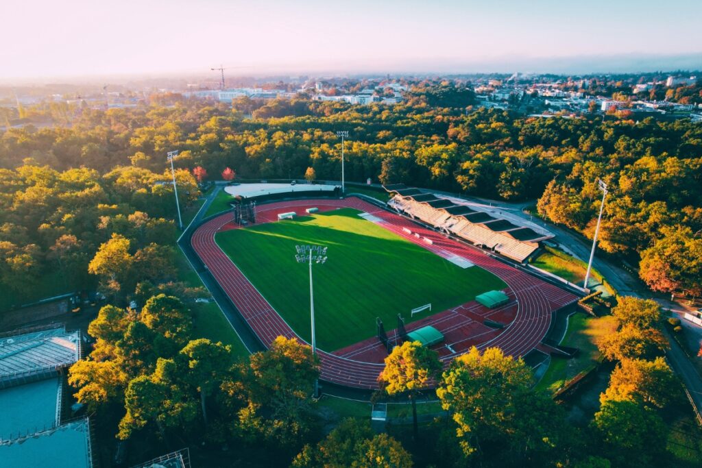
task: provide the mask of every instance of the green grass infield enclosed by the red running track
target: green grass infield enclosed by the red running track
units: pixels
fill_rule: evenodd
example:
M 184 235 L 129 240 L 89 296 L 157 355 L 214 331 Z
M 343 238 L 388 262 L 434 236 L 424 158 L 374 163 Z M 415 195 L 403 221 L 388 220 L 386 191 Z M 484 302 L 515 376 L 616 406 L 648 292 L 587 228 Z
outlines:
M 334 351 L 386 330 L 397 314 L 432 303 L 442 312 L 505 283 L 479 267 L 463 269 L 429 250 L 343 208 L 295 220 L 270 222 L 216 234 L 218 245 L 285 321 L 310 340 L 307 265 L 295 259 L 296 244 L 329 247 L 324 265 L 313 265 L 317 346 Z

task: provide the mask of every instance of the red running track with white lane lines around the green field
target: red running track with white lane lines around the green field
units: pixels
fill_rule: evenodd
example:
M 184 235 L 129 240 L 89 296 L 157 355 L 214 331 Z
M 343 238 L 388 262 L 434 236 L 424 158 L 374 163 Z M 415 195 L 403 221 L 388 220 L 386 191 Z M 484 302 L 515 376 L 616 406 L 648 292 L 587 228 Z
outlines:
M 505 354 L 524 356 L 541 342 L 548 331 L 551 312 L 577 300 L 574 295 L 505 265 L 475 248 L 446 239 L 437 232 L 419 227 L 401 216 L 395 215 L 395 213 L 382 210 L 357 198 L 283 201 L 260 205 L 256 210 L 257 220 L 258 222 L 270 222 L 277 219 L 278 213 L 291 210 L 304 213 L 305 208 L 312 206 L 321 211 L 356 208 L 371 213 L 382 220 L 380 225 L 404 239 L 413 241 L 443 257 L 450 254 L 460 255 L 473 264 L 499 276 L 508 284 L 505 292 L 516 302 L 511 302 L 510 305 L 498 309 L 497 312 L 489 311 L 475 302 L 469 302 L 451 309 L 451 311 L 435 314 L 428 319 L 414 322 L 408 326 L 408 330 L 411 330 L 418 328 L 418 326 L 432 324 L 442 330 L 444 334 L 461 330 L 458 336 L 460 337 L 462 333 L 465 339 L 453 342 L 456 345 L 453 347 L 455 352 L 451 353 L 445 347 L 443 348 L 441 359 L 445 365 L 454 357 L 463 354 L 472 345 L 476 345 L 478 349 L 500 347 Z M 300 342 L 303 342 L 215 242 L 216 232 L 237 228 L 230 222 L 231 216 L 230 213 L 220 215 L 199 227 L 192 236 L 194 250 L 265 345 L 270 345 L 279 335 L 297 337 Z M 433 244 L 428 245 L 415 236 L 407 234 L 403 228 L 411 229 L 412 232 L 431 239 Z M 498 314 L 496 320 L 503 321 L 513 318 L 512 322 L 503 330 L 493 330 L 477 321 L 479 317 L 488 317 L 495 312 Z M 454 339 L 453 336 L 449 337 L 449 335 L 446 335 L 446 338 L 447 342 Z M 463 344 L 461 345 L 461 343 Z M 383 364 L 372 362 L 377 361 L 378 345 L 373 344 L 373 340 L 366 340 L 350 348 L 352 349 L 339 350 L 336 354 L 319 350 L 319 358 L 322 362 L 322 380 L 349 387 L 378 388 L 378 374 L 383 369 Z M 366 352 L 367 354 L 365 354 Z M 344 354 L 344 356 L 339 354 Z M 364 355 L 369 359 L 362 359 Z

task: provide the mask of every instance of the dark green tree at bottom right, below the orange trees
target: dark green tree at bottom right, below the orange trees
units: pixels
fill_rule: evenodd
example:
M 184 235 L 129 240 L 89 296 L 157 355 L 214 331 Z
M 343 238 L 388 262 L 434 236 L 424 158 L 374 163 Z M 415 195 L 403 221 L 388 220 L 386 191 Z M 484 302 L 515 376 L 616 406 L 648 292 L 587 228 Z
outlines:
M 593 427 L 616 467 L 656 467 L 665 453 L 668 429 L 654 410 L 633 401 L 607 401 Z

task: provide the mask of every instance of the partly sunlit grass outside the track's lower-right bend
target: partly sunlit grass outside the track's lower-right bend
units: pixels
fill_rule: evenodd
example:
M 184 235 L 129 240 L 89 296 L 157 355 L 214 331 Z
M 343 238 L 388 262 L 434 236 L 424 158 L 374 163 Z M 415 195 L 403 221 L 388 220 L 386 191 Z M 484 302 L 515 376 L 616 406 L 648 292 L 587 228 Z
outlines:
M 576 312 L 568 319 L 568 328 L 561 345 L 576 347 L 580 352 L 573 359 L 552 357 L 548 370 L 536 385 L 537 390 L 555 392 L 583 370 L 594 366 L 600 359 L 597 339 L 616 330 L 616 320 L 611 315 L 593 317 Z

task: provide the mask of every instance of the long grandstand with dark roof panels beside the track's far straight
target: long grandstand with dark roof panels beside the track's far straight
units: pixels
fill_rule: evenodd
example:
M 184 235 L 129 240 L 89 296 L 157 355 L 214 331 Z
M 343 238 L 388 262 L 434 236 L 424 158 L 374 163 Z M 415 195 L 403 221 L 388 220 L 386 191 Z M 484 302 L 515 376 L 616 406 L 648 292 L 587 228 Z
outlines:
M 459 203 L 404 184 L 383 188 L 392 195 L 388 206 L 398 213 L 512 260 L 524 262 L 538 250 L 541 241 L 552 238 L 551 234 L 495 218 L 477 205 Z

